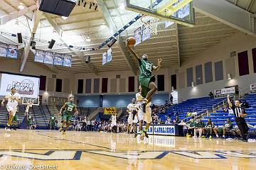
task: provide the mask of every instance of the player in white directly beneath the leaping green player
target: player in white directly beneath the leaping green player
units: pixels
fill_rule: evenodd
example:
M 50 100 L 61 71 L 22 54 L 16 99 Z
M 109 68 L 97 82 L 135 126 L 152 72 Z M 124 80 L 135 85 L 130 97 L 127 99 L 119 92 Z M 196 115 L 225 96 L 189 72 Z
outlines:
M 141 94 L 142 91 L 142 87 L 139 86 L 139 93 L 136 94 L 136 100 L 137 103 L 139 105 L 140 102 L 142 102 L 144 100 L 144 97 Z M 149 129 L 149 126 L 151 124 L 151 108 L 150 108 L 151 102 L 146 104 L 146 113 L 142 112 L 142 109 L 139 109 L 138 111 L 138 115 L 139 115 L 139 133 L 141 135 L 141 140 L 144 139 L 144 136 L 146 136 L 147 138 L 149 137 L 149 135 L 147 135 L 146 131 Z M 146 122 L 146 128 L 144 130 L 142 130 L 142 125 L 143 122 Z

